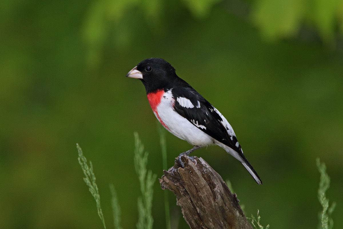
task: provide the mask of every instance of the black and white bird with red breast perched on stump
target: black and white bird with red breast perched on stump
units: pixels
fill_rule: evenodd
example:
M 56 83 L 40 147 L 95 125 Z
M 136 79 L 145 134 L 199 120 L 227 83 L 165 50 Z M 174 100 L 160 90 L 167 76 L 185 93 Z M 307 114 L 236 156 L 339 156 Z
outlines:
M 140 79 L 158 121 L 171 134 L 194 147 L 181 155 L 209 145 L 222 147 L 240 161 L 258 184 L 262 181 L 243 154 L 232 126 L 226 118 L 176 75 L 175 68 L 161 58 L 141 61 L 126 77 Z

